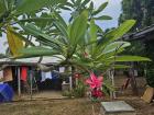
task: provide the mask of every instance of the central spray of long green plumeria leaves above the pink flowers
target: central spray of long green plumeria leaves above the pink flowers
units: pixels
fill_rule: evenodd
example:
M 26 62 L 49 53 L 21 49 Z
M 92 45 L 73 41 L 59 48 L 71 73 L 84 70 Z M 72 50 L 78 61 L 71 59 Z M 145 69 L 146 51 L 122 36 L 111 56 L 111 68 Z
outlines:
M 61 2 L 61 0 L 58 1 Z M 7 2 L 10 3 L 9 1 Z M 38 42 L 42 46 L 34 46 L 34 44 L 31 39 L 29 39 L 29 37 L 26 38 L 21 35 L 22 37 L 20 36 L 20 38 L 23 39 L 26 44 L 31 45 L 31 47 L 20 50 L 20 54 L 23 54 L 20 57 L 62 55 L 64 57 L 62 59 L 62 64 L 78 64 L 79 66 L 81 62 L 84 64 L 80 65 L 81 67 L 88 66 L 88 68 L 90 67 L 89 69 L 94 68 L 94 66 L 96 66 L 97 68 L 101 68 L 101 64 L 103 64 L 103 67 L 110 67 L 114 61 L 124 61 L 124 58 L 127 58 L 128 61 L 129 59 L 131 59 L 130 61 L 135 61 L 138 60 L 138 58 L 140 58 L 116 56 L 122 50 L 124 50 L 124 47 L 130 45 L 127 42 L 117 42 L 117 39 L 120 38 L 124 33 L 127 33 L 134 25 L 135 21 L 127 21 L 123 24 L 121 24 L 118 28 L 114 28 L 108 32 L 107 34 L 103 34 L 102 31 L 100 31 L 100 27 L 95 24 L 96 15 L 107 7 L 108 2 L 102 3 L 97 10 L 94 10 L 92 2 L 90 2 L 91 4 L 88 7 L 89 2 L 87 0 L 85 2 L 81 0 L 70 0 L 69 2 L 67 1 L 65 5 L 73 9 L 76 8 L 78 9 L 76 11 L 79 12 L 78 15 L 73 18 L 73 21 L 69 24 L 67 24 L 58 14 L 59 10 L 51 10 L 50 14 L 45 13 L 47 18 L 45 16 L 43 19 L 42 16 L 44 15 L 44 13 L 42 13 L 40 18 L 37 18 L 36 15 L 35 18 L 31 16 L 31 12 L 38 12 L 37 10 L 43 9 L 43 7 L 50 9 L 48 5 L 52 5 L 52 8 L 54 8 L 54 4 L 46 4 L 44 2 L 42 4 L 38 4 L 36 8 L 29 8 L 26 5 L 21 7 L 24 3 L 26 4 L 28 2 L 29 0 L 11 2 L 11 7 L 13 7 L 12 9 L 10 8 L 10 12 L 14 15 L 19 15 L 22 13 L 28 13 L 28 18 L 30 15 L 28 20 L 24 19 L 26 23 L 23 20 L 18 21 L 23 31 L 20 31 L 19 28 L 18 30 L 24 33 L 24 35 L 31 35 L 32 37 L 35 37 L 36 42 Z M 35 5 L 35 0 L 31 2 L 31 5 Z M 78 4 L 80 4 L 82 9 L 79 9 Z M 26 10 L 28 8 L 29 10 Z M 42 26 L 37 24 L 37 21 L 42 22 L 44 20 L 48 20 L 48 18 L 51 18 L 52 22 L 48 22 L 47 25 L 52 26 L 50 28 L 46 28 L 48 26 L 44 25 L 44 27 L 42 28 Z M 7 24 L 9 24 L 9 22 Z M 13 34 L 14 33 L 16 32 L 13 30 Z M 102 35 L 100 37 L 101 42 L 99 42 L 99 44 L 97 42 L 98 33 Z M 18 35 L 15 34 L 15 36 Z M 84 53 L 87 53 L 88 57 L 84 57 Z M 142 59 L 143 58 L 139 60 Z M 85 60 L 87 60 L 87 65 L 85 65 Z M 144 58 L 143 60 L 148 59 Z M 106 62 L 105 65 L 105 61 L 108 62 Z

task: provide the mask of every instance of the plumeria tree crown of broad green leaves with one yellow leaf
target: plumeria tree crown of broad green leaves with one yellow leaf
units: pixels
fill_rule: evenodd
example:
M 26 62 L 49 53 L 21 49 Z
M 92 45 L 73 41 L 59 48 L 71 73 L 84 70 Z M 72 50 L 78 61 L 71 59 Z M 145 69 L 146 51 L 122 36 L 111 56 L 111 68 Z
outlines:
M 0 30 L 7 34 L 11 58 L 51 56 L 61 59 L 57 66 L 103 76 L 110 69 L 128 68 L 119 62 L 150 61 L 120 55 L 131 45 L 120 38 L 135 24 L 134 20 L 108 33 L 96 24 L 97 20 L 111 20 L 99 16 L 107 4 L 95 9 L 90 0 L 1 0 L 4 8 L 0 7 Z M 70 12 L 69 22 L 62 18 L 62 9 Z

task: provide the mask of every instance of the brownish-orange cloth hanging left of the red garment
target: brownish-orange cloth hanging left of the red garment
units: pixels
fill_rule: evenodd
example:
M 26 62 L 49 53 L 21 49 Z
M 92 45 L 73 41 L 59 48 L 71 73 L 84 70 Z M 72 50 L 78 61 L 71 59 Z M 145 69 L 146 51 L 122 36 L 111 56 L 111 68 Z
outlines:
M 13 77 L 12 77 L 11 67 L 3 69 L 3 81 L 8 82 L 8 81 L 12 81 L 12 80 L 13 80 Z

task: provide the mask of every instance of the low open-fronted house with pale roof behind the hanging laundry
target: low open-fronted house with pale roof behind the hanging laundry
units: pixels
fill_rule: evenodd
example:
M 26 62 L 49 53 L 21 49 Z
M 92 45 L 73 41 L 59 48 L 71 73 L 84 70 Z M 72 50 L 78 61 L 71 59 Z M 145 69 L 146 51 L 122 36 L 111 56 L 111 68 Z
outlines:
M 28 68 L 28 73 L 30 81 L 33 81 L 34 74 L 37 72 L 40 72 L 40 77 L 42 77 L 40 81 L 35 82 L 37 84 L 36 89 L 40 90 L 62 90 L 62 82 L 63 82 L 63 78 L 59 76 L 59 73 L 55 72 L 55 71 L 48 71 L 48 72 L 44 72 L 42 70 L 40 70 L 38 68 L 38 57 L 35 58 L 24 58 L 24 59 L 15 59 L 15 60 L 11 60 L 8 58 L 4 59 L 0 59 L 0 67 L 6 66 L 6 68 L 11 68 L 12 70 L 12 78 L 13 80 L 11 81 L 7 81 L 10 85 L 12 85 L 12 88 L 14 89 L 14 91 L 18 91 L 18 94 L 21 95 L 24 84 L 23 84 L 23 80 L 22 80 L 22 68 L 26 67 Z M 46 66 L 46 67 L 54 67 L 54 70 L 59 71 L 59 72 L 64 72 L 65 68 L 62 66 L 57 66 L 59 58 L 56 57 L 43 57 L 41 65 Z M 45 76 L 48 78 L 43 78 L 45 76 L 43 76 L 42 73 L 45 73 Z M 51 77 L 51 78 L 50 78 Z M 55 79 L 56 78 L 56 79 Z M 44 81 L 43 81 L 44 79 Z M 36 80 L 34 80 L 36 81 Z M 69 77 L 68 81 L 72 82 L 72 78 Z M 31 84 L 32 82 L 30 82 Z M 32 87 L 32 88 L 31 88 Z M 69 87 L 72 88 L 72 83 L 69 83 Z M 31 90 L 33 90 L 33 85 L 29 87 Z M 30 90 L 30 91 L 31 91 Z

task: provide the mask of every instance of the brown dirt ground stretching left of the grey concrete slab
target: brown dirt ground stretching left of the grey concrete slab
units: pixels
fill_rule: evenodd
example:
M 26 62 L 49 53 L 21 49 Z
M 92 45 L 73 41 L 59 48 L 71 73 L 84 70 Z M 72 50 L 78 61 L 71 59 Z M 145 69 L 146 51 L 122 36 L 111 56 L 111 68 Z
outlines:
M 92 105 L 85 99 L 14 102 L 0 105 L 0 115 L 92 115 Z

